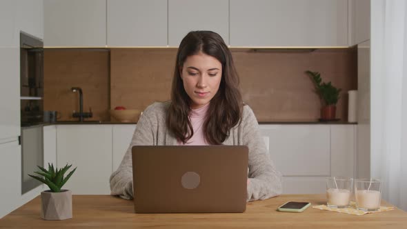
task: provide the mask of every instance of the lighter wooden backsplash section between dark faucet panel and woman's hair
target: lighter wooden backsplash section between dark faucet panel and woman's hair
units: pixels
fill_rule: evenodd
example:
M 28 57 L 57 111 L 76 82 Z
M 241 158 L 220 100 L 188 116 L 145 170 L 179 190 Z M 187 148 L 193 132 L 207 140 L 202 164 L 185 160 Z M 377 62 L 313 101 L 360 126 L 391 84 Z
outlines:
M 170 99 L 175 49 L 112 49 L 110 107 L 144 110 Z

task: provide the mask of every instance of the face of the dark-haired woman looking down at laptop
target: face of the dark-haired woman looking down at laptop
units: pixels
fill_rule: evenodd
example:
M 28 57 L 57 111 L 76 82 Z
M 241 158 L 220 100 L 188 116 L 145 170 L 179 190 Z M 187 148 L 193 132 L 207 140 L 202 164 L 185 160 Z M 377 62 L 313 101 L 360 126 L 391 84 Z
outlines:
M 186 58 L 181 70 L 183 88 L 191 99 L 191 109 L 210 102 L 221 83 L 222 64 L 215 57 L 199 52 Z

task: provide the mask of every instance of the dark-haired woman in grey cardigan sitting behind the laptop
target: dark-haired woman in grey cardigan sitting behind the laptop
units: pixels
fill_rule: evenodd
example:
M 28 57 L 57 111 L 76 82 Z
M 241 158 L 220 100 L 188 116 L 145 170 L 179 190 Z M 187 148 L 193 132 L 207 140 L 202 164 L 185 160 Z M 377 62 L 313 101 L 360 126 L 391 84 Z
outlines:
M 249 148 L 248 201 L 280 195 L 281 174 L 238 86 L 232 54 L 219 34 L 189 32 L 177 52 L 171 101 L 144 110 L 121 165 L 110 177 L 111 194 L 133 197 L 132 146 L 224 144 Z

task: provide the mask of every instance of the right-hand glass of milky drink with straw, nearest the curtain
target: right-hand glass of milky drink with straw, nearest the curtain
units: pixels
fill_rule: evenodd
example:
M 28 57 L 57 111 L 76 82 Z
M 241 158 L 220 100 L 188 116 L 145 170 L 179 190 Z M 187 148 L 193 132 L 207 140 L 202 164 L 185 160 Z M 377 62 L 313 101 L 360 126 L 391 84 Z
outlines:
M 355 179 L 356 208 L 376 211 L 380 209 L 381 181 L 379 179 Z

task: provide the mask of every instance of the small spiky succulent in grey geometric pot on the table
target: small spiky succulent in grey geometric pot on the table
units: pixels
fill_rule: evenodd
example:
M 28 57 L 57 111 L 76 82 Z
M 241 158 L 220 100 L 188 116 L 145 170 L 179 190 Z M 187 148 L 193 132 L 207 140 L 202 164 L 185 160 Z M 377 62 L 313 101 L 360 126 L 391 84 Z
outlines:
M 46 220 L 63 220 L 72 218 L 72 192 L 61 189 L 77 170 L 73 169 L 66 177 L 63 175 L 72 165 L 66 164 L 63 168 L 54 168 L 48 163 L 48 170 L 38 166 L 41 171 L 34 172 L 42 177 L 29 175 L 30 177 L 45 183 L 50 190 L 41 192 L 41 217 Z

